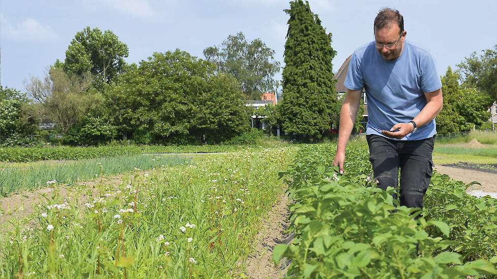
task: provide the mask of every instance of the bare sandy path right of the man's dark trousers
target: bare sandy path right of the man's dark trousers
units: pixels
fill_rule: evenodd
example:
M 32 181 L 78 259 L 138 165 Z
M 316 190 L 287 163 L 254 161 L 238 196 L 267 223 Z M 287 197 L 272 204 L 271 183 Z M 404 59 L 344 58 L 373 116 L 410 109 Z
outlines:
M 481 186 L 478 184 L 470 186 L 468 191 L 478 189 L 484 192 L 497 192 L 497 175 L 495 173 L 440 165 L 435 166 L 435 169 L 439 173 L 448 175 L 454 180 L 464 183 L 471 183 L 473 181 L 481 183 Z

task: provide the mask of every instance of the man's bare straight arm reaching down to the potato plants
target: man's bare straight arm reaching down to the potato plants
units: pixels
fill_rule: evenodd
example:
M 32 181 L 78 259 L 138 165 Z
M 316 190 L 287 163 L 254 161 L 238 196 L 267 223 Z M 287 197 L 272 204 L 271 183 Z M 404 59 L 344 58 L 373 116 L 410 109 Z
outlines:
M 338 146 L 336 148 L 336 155 L 333 161 L 333 166 L 338 166 L 340 173 L 344 173 L 345 148 L 347 147 L 347 142 L 349 142 L 350 134 L 354 128 L 361 94 L 362 89 L 348 89 L 344 104 L 341 106 L 340 126 L 338 129 Z

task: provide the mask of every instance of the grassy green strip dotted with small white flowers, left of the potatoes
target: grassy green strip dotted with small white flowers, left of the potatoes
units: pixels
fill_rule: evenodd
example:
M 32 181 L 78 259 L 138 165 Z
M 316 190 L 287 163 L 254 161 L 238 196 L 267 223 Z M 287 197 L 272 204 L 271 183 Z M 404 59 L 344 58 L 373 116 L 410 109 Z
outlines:
M 47 204 L 0 230 L 0 278 L 244 278 L 294 150 L 159 165 L 118 187 L 74 187 L 69 197 L 49 181 Z

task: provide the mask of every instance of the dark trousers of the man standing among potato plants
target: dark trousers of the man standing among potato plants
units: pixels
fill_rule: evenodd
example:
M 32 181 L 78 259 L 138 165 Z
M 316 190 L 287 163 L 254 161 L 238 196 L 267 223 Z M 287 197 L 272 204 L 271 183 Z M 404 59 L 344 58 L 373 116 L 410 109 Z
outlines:
M 369 161 L 378 187 L 398 189 L 400 168 L 400 205 L 423 207 L 423 197 L 433 173 L 434 137 L 420 141 L 396 141 L 380 135 L 366 135 Z M 393 197 L 397 198 L 396 195 Z

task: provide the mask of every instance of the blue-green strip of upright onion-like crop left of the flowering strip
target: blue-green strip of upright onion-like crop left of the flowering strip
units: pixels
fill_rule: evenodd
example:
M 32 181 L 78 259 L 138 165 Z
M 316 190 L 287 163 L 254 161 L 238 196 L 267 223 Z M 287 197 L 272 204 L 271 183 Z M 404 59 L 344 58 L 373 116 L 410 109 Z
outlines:
M 98 164 L 98 163 L 101 163 Z M 34 190 L 46 186 L 47 181 L 73 183 L 99 176 L 133 171 L 136 168 L 151 169 L 161 165 L 178 165 L 185 162 L 183 156 L 125 155 L 119 157 L 87 159 L 68 162 L 40 162 L 26 166 L 0 168 L 0 196 L 22 190 Z M 101 167 L 104 166 L 104 167 Z

